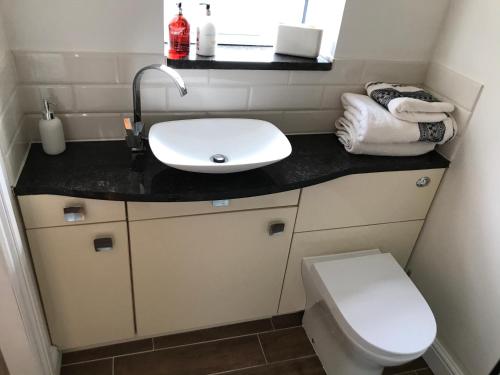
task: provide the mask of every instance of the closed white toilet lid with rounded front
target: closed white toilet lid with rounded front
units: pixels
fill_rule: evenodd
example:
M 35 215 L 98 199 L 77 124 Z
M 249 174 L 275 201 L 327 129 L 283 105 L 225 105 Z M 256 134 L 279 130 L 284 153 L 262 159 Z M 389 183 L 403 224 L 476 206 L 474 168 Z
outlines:
M 391 254 L 318 262 L 313 270 L 341 329 L 366 350 L 408 356 L 434 341 L 434 315 Z

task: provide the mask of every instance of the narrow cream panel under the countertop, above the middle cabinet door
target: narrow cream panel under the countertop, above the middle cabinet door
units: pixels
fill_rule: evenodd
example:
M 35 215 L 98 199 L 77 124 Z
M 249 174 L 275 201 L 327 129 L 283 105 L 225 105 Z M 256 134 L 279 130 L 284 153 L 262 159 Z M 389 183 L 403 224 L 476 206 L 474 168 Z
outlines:
M 296 206 L 300 190 L 284 193 L 261 195 L 258 197 L 230 199 L 227 205 L 214 207 L 214 202 L 127 202 L 129 220 L 157 219 L 176 216 L 189 216 L 251 210 L 257 208 Z

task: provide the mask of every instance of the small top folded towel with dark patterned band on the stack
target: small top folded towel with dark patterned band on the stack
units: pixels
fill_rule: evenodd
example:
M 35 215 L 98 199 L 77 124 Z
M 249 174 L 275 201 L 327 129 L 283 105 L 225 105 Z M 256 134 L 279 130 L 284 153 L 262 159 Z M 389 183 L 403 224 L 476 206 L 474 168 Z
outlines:
M 369 97 L 386 108 L 400 120 L 412 122 L 438 122 L 452 112 L 453 104 L 441 102 L 432 94 L 415 86 L 393 83 L 368 82 L 365 85 Z

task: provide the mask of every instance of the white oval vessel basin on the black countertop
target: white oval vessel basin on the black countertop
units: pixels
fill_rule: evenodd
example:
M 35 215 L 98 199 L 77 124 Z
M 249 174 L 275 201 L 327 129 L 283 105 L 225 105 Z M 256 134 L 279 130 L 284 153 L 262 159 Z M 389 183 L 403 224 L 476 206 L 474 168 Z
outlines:
M 202 173 L 247 171 L 292 152 L 288 139 L 270 122 L 235 118 L 161 122 L 149 130 L 149 145 L 162 163 Z

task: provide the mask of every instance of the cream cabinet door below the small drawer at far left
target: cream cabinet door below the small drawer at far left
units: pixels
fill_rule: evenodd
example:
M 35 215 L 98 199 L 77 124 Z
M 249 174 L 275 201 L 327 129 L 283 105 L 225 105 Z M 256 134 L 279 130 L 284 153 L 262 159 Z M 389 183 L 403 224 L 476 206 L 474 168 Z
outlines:
M 78 348 L 134 336 L 125 222 L 27 230 L 52 341 Z M 111 238 L 96 251 L 96 238 Z

